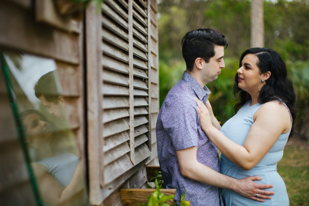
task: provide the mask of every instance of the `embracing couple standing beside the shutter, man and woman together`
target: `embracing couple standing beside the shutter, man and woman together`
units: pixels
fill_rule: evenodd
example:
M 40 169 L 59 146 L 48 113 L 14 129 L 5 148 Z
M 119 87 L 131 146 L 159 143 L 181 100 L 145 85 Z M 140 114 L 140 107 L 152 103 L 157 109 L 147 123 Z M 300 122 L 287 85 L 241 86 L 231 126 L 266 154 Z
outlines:
M 251 48 L 240 57 L 235 116 L 222 127 L 205 86 L 225 67 L 224 35 L 197 29 L 182 39 L 186 71 L 160 109 L 156 136 L 167 188 L 191 205 L 289 205 L 277 162 L 293 131 L 295 93 L 280 55 Z M 218 149 L 222 152 L 218 156 Z

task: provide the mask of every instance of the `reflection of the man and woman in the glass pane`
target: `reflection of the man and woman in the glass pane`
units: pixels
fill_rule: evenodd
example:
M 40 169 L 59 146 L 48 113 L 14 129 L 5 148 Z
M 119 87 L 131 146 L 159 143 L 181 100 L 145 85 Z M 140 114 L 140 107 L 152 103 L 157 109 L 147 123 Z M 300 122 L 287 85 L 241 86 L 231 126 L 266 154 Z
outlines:
M 56 71 L 44 74 L 36 83 L 35 94 L 48 107 L 50 114 L 63 119 L 64 99 L 57 92 Z M 83 166 L 70 147 L 68 135 L 49 122 L 37 110 L 20 114 L 26 142 L 32 153 L 32 169 L 44 203 L 81 205 L 84 201 Z

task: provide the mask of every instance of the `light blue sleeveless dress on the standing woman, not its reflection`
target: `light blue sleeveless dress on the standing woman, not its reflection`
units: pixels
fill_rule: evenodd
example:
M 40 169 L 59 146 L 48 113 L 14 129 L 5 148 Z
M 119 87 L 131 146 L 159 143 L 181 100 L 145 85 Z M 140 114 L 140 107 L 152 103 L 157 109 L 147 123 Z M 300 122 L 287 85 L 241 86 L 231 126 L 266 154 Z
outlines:
M 260 103 L 250 106 L 251 100 L 243 105 L 231 119 L 226 121 L 220 131 L 239 145 L 243 145 L 245 142 L 251 125 L 253 124 L 254 113 L 263 105 Z M 282 103 L 282 102 L 281 102 Z M 284 103 L 283 103 L 284 104 Z M 286 106 L 286 104 L 284 104 Z M 289 111 L 290 112 L 290 111 Z M 290 114 L 291 115 L 291 114 Z M 290 116 L 291 117 L 291 116 Z M 257 202 L 248 198 L 245 198 L 238 193 L 222 189 L 222 197 L 226 206 L 230 205 L 262 205 L 262 206 L 274 206 L 289 205 L 289 197 L 286 192 L 286 185 L 283 182 L 280 175 L 277 173 L 277 163 L 283 156 L 283 149 L 288 140 L 290 131 L 281 134 L 273 147 L 265 155 L 265 157 L 256 164 L 251 170 L 243 170 L 241 167 L 235 165 L 226 156 L 221 154 L 221 173 L 231 176 L 236 179 L 242 179 L 244 177 L 258 175 L 263 179 L 255 181 L 261 184 L 272 184 L 274 187 L 266 189 L 268 191 L 274 191 L 275 195 L 272 195 L 271 200 L 265 200 L 265 202 Z

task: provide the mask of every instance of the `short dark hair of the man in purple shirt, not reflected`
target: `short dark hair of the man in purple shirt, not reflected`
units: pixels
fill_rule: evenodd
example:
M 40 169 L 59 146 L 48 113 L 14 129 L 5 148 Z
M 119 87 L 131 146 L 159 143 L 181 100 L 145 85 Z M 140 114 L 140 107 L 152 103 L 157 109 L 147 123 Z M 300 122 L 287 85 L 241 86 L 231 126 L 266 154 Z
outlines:
M 181 40 L 182 56 L 187 65 L 187 70 L 192 71 L 196 58 L 202 58 L 206 63 L 215 55 L 214 46 L 224 46 L 227 43 L 225 36 L 211 28 L 197 29 L 187 32 Z

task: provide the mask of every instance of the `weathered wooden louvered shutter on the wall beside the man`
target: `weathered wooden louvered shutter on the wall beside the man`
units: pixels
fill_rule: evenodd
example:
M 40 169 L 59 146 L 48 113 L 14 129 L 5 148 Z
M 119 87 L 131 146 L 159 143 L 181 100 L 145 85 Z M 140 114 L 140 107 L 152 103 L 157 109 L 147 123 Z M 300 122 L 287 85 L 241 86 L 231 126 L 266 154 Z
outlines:
M 150 160 L 147 7 L 143 0 L 102 5 L 103 199 Z

